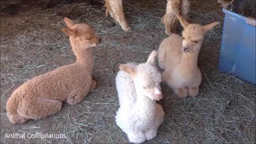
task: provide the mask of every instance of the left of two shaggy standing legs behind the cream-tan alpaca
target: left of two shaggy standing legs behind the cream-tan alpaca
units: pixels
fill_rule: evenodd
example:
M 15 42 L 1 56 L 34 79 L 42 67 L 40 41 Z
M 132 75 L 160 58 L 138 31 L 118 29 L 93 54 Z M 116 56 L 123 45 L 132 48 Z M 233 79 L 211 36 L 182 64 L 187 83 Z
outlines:
M 166 13 L 162 18 L 162 23 L 165 25 L 165 34 L 171 35 L 175 32 L 175 28 L 178 25 L 178 19 L 176 15 L 180 13 L 180 3 L 179 0 L 167 0 Z

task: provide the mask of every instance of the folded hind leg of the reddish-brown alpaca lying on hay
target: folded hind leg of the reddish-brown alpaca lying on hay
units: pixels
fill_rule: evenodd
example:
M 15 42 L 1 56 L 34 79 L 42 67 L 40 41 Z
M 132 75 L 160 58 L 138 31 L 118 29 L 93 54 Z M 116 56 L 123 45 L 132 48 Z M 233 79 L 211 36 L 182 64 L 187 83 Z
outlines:
M 29 119 L 44 118 L 60 111 L 62 102 L 44 98 L 33 98 L 21 101 L 18 114 Z

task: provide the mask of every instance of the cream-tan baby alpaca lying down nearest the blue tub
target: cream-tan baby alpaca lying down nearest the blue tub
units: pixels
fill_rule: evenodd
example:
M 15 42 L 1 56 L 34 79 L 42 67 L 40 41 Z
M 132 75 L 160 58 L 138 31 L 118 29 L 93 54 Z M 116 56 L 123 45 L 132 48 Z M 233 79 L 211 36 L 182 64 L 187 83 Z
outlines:
M 182 35 L 172 34 L 159 46 L 158 64 L 165 69 L 162 81 L 170 86 L 180 97 L 195 97 L 199 92 L 202 74 L 197 67 L 197 58 L 207 31 L 219 22 L 201 26 L 190 24 L 177 15 L 182 27 Z

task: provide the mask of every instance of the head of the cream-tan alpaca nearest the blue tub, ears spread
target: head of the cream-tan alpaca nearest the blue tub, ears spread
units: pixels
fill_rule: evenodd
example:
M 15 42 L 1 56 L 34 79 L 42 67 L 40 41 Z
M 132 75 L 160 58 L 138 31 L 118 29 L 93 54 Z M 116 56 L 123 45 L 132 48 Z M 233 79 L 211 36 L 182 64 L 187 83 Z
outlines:
M 188 23 L 180 15 L 177 15 L 181 26 L 184 28 L 182 32 L 182 50 L 183 52 L 194 52 L 200 50 L 200 47 L 204 41 L 204 35 L 207 31 L 213 29 L 214 26 L 218 25 L 219 22 L 213 22 L 209 25 L 201 26 L 196 23 Z

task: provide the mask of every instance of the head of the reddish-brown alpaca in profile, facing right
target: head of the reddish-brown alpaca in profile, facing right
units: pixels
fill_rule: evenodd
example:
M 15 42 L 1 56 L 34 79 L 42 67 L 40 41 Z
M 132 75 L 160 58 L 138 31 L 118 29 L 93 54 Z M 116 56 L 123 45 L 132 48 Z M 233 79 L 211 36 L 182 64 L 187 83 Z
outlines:
M 91 26 L 84 23 L 75 23 L 74 21 L 64 18 L 67 28 L 62 28 L 64 33 L 73 37 L 75 43 L 84 47 L 93 47 L 101 43 L 101 37 L 94 34 Z

